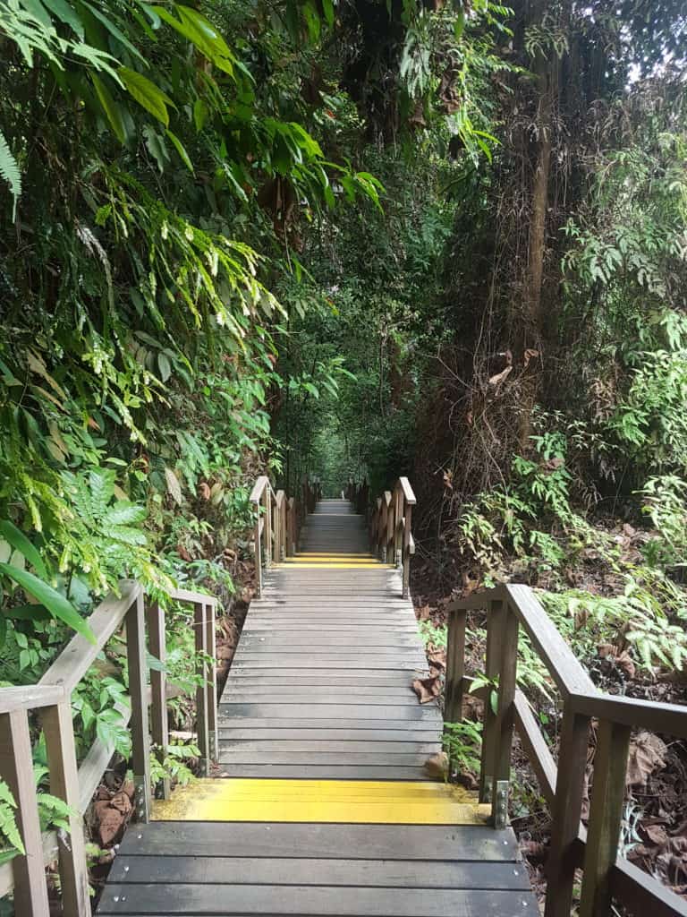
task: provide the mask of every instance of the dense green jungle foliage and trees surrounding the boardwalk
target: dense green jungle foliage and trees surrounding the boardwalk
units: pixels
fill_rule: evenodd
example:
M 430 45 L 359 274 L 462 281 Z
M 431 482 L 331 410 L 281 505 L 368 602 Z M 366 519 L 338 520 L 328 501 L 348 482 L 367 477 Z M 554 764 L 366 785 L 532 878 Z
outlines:
M 121 577 L 228 602 L 266 469 L 409 474 L 443 591 L 683 672 L 685 47 L 645 0 L 0 5 L 0 683 Z M 99 661 L 80 751 L 126 757 Z

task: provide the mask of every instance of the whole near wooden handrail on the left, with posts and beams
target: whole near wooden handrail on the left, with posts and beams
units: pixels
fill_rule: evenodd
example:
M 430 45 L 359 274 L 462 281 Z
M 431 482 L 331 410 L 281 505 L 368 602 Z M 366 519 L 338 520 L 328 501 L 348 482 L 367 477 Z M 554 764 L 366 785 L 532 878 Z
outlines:
M 202 592 L 172 590 L 175 601 L 191 602 L 195 608 L 197 674 L 196 698 L 198 742 L 202 767 L 215 756 L 217 685 L 214 664 L 215 607 L 217 600 Z M 148 646 L 146 641 L 148 619 Z M 82 813 L 93 797 L 114 748 L 99 739 L 77 768 L 73 735 L 71 693 L 93 665 L 108 640 L 125 625 L 129 671 L 130 712 L 120 708 L 122 723 L 131 719 L 135 811 L 145 822 L 150 812 L 150 735 L 164 755 L 167 747 L 167 685 L 164 671 L 151 670 L 147 687 L 147 651 L 165 660 L 164 613 L 157 602 L 146 608 L 144 590 L 134 580 L 122 580 L 119 594 L 108 595 L 89 618 L 95 643 L 81 635 L 72 637 L 38 685 L 0 688 L 0 777 L 5 779 L 17 803 L 17 826 L 25 854 L 17 854 L 0 867 L 0 896 L 14 890 L 15 909 L 22 917 L 47 917 L 49 913 L 45 863 L 60 859 L 60 889 L 64 917 L 90 917 L 88 868 Z M 148 706 L 152 730 L 148 729 Z M 33 779 L 28 714 L 38 711 L 46 742 L 50 792 L 71 810 L 69 831 L 41 835 L 38 797 Z M 169 794 L 169 787 L 163 788 Z

